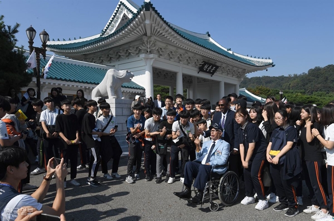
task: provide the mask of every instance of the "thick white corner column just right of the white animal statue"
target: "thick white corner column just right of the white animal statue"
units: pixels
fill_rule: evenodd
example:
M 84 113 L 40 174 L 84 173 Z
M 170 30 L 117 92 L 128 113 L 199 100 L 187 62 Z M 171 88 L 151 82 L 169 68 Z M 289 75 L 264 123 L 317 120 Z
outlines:
M 142 59 L 145 62 L 145 75 L 144 75 L 145 85 L 142 85 L 145 88 L 145 97 L 154 98 L 154 95 L 153 95 L 153 65 L 152 64 L 153 64 L 153 61 L 156 55 L 146 55 L 145 54 L 145 55 L 140 55 L 140 57 L 142 57 Z

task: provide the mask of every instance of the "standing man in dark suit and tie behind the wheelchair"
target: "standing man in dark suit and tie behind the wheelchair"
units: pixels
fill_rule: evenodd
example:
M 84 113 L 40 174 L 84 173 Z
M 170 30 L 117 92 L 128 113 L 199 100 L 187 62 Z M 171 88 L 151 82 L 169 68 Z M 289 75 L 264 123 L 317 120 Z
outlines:
M 228 158 L 229 170 L 234 171 L 238 176 L 240 176 L 241 171 L 241 158 L 239 153 L 239 142 L 238 129 L 239 124 L 234 119 L 234 111 L 228 108 L 228 100 L 222 98 L 218 102 L 220 112 L 216 112 L 212 119 L 212 124 L 219 124 L 223 127 L 222 139 L 230 144 L 230 157 Z M 209 134 L 206 132 L 205 137 Z

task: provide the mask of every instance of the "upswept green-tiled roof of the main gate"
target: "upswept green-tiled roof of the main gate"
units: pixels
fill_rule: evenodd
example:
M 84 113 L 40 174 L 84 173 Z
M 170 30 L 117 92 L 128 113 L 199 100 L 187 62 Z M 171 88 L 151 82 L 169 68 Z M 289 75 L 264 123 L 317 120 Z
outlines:
M 256 66 L 256 67 L 261 67 L 261 66 L 268 66 L 268 65 L 273 65 L 273 62 L 266 62 L 266 61 L 260 61 L 260 60 L 253 60 L 253 59 L 248 59 L 248 58 L 244 58 L 244 57 L 240 57 L 238 55 L 233 55 L 231 53 L 226 52 L 225 50 L 223 50 L 222 48 L 220 48 L 219 46 L 217 46 L 216 44 L 214 44 L 213 42 L 211 42 L 209 39 L 204 39 L 204 38 L 200 38 L 198 36 L 192 35 L 190 34 L 191 31 L 185 32 L 183 30 L 180 30 L 178 28 L 175 28 L 175 26 L 173 26 L 172 24 L 168 23 L 161 15 L 160 13 L 155 9 L 155 7 L 153 7 L 153 4 L 151 2 L 144 2 L 143 5 L 140 6 L 140 8 L 138 9 L 138 11 L 136 13 L 134 13 L 133 11 L 131 11 L 130 9 L 128 9 L 128 7 L 122 2 L 120 1 L 120 3 L 117 6 L 117 9 L 115 11 L 114 16 L 117 14 L 119 7 L 121 5 L 125 6 L 132 14 L 133 17 L 131 19 L 129 19 L 129 21 L 122 26 L 121 28 L 118 28 L 117 30 L 115 30 L 113 33 L 107 35 L 107 36 L 102 36 L 103 34 L 106 33 L 107 29 L 109 28 L 109 26 L 111 25 L 114 16 L 111 18 L 111 20 L 109 21 L 108 25 L 106 28 L 104 28 L 104 30 L 102 30 L 102 33 L 99 37 L 94 38 L 94 39 L 90 39 L 90 40 L 86 40 L 83 42 L 74 42 L 74 43 L 67 43 L 67 44 L 57 44 L 57 45 L 47 45 L 47 47 L 49 49 L 56 49 L 56 50 L 76 50 L 76 49 L 80 49 L 80 48 L 84 48 L 90 45 L 95 45 L 99 42 L 105 41 L 111 37 L 113 37 L 114 35 L 116 35 L 117 33 L 119 33 L 120 31 L 122 31 L 124 28 L 128 27 L 128 25 L 137 18 L 137 16 L 139 15 L 140 11 L 143 10 L 145 8 L 145 5 L 149 4 L 149 6 L 153 9 L 153 11 L 166 23 L 166 25 L 171 28 L 172 30 L 174 30 L 177 34 L 179 34 L 181 37 L 187 39 L 188 41 L 201 46 L 203 48 L 206 48 L 210 51 L 213 51 L 215 53 L 218 53 L 220 55 L 232 58 L 234 60 L 237 60 L 239 62 L 242 63 L 246 63 L 249 64 L 251 66 Z

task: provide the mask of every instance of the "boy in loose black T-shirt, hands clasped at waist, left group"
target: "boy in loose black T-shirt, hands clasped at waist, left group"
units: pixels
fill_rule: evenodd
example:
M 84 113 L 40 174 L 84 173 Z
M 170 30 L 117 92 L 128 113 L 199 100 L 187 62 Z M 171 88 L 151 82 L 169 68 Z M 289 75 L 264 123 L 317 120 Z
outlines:
M 66 165 L 68 165 L 68 160 L 71 161 L 70 184 L 80 186 L 81 184 L 75 180 L 77 177 L 78 144 L 80 140 L 78 118 L 75 114 L 71 113 L 71 101 L 67 99 L 63 100 L 60 105 L 61 109 L 64 110 L 64 113 L 56 117 L 56 132 L 59 133 L 59 137 L 62 141 L 60 155 L 61 158 L 64 158 Z M 64 188 L 67 188 L 66 177 L 64 180 Z

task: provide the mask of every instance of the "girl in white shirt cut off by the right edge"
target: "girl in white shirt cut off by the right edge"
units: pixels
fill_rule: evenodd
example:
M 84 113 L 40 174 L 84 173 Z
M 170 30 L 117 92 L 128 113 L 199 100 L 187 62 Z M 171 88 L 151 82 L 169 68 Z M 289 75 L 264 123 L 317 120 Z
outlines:
M 324 137 L 319 133 L 316 128 L 312 129 L 312 136 L 318 138 L 322 145 L 324 145 L 327 156 L 327 185 L 329 193 L 329 214 L 316 221 L 333 221 L 334 220 L 334 105 L 325 105 L 321 111 L 321 123 L 324 127 Z

